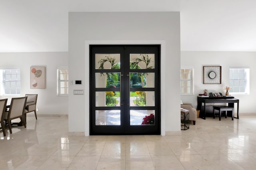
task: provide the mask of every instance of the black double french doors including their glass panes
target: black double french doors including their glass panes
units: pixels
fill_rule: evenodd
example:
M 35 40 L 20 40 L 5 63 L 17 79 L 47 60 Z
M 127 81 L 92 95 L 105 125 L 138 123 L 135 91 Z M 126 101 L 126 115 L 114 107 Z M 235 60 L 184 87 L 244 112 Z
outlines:
M 160 45 L 90 45 L 90 135 L 160 134 Z

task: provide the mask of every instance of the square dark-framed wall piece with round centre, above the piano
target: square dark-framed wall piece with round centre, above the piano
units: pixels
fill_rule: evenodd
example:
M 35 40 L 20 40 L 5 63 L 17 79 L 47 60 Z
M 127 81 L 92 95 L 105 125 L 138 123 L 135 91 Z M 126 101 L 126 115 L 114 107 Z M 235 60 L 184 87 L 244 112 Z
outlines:
M 204 84 L 221 84 L 221 66 L 203 66 Z

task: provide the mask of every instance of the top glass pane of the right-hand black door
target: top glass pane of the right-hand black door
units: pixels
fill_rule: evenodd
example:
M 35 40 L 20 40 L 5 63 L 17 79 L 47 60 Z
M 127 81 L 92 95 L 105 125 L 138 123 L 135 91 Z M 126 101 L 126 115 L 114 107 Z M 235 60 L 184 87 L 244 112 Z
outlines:
M 130 54 L 130 69 L 154 69 L 155 54 Z

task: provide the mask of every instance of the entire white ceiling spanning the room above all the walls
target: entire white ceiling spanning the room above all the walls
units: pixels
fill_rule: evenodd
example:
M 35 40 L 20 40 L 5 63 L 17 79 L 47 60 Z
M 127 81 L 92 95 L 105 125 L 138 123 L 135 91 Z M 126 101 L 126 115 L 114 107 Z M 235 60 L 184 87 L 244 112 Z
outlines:
M 180 11 L 181 51 L 256 51 L 256 0 L 0 0 L 0 52 L 68 51 L 68 12 Z

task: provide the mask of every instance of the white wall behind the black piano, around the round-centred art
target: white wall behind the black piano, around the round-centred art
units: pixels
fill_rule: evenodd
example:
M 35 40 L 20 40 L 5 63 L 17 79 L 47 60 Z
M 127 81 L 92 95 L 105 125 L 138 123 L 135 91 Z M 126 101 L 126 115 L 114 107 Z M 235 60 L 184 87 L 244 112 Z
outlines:
M 234 95 L 239 99 L 239 113 L 255 113 L 252 109 L 256 96 L 256 52 L 227 52 L 227 51 L 181 51 L 181 66 L 194 67 L 194 95 L 182 95 L 182 102 L 197 106 L 197 96 L 204 89 L 208 92 L 225 93 L 224 87 L 229 86 L 229 67 L 250 67 L 250 94 Z M 222 66 L 221 84 L 203 84 L 203 66 Z

